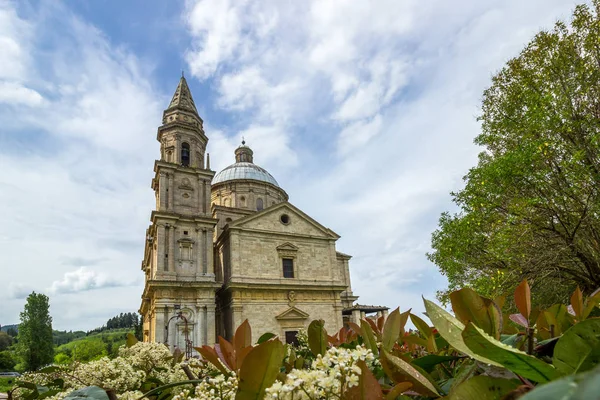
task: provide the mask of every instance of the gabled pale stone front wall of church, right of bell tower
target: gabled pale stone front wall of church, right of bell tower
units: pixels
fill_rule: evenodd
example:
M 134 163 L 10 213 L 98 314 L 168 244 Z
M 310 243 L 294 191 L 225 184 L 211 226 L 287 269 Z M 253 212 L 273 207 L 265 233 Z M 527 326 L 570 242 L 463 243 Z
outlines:
M 225 284 L 219 334 L 230 337 L 245 319 L 255 335 L 285 337 L 314 319 L 339 330 L 347 263 L 339 260 L 337 238 L 289 203 L 232 221 L 217 241 Z M 293 278 L 283 277 L 282 258 L 294 260 Z

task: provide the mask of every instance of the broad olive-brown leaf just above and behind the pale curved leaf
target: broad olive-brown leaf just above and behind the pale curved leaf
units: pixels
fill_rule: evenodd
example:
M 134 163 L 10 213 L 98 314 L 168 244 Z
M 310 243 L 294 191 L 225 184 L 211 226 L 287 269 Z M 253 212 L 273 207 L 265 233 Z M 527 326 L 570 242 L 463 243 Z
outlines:
M 485 333 L 500 339 L 501 313 L 493 300 L 480 296 L 471 288 L 450 293 L 454 314 L 463 322 L 473 322 Z

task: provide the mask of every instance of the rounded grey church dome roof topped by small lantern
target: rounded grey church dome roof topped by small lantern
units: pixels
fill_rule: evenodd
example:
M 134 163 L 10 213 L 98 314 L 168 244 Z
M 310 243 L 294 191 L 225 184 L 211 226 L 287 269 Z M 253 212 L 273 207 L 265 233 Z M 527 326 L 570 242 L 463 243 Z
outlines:
M 246 146 L 245 141 L 242 141 L 242 145 L 235 149 L 235 164 L 231 164 L 216 174 L 212 180 L 212 184 L 216 185 L 218 183 L 237 180 L 252 180 L 270 183 L 279 187 L 273 175 L 268 173 L 264 168 L 254 164 L 253 155 L 254 152 L 252 149 Z

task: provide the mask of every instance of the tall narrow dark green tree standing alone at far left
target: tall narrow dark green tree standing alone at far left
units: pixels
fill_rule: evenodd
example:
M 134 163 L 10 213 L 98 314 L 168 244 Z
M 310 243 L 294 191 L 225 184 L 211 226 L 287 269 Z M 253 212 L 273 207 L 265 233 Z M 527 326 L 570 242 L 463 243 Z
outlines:
M 36 370 L 52 362 L 52 317 L 48 296 L 31 293 L 21 312 L 17 350 L 27 370 Z

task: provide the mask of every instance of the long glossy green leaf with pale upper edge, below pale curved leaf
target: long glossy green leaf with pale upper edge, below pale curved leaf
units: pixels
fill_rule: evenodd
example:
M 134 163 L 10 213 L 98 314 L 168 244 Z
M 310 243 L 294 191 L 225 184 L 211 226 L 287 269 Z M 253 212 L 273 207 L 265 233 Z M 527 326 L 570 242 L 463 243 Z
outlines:
M 469 322 L 462 333 L 471 351 L 494 360 L 506 369 L 535 382 L 548 382 L 559 376 L 558 371 L 544 361 L 507 346 Z

